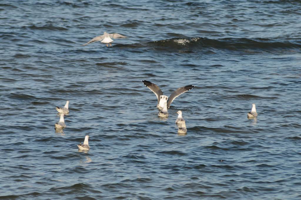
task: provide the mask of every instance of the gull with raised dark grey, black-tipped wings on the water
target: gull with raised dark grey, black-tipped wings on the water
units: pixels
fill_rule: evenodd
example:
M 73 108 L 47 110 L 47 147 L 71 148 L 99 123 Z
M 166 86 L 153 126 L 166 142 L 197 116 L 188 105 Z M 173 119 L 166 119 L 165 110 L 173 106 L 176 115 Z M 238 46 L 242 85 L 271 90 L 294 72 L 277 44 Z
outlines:
M 191 90 L 192 88 L 194 88 L 193 85 L 180 87 L 175 92 L 173 92 L 168 98 L 167 96 L 163 95 L 163 92 L 156 84 L 151 83 L 147 80 L 143 80 L 142 82 L 145 86 L 148 87 L 148 89 L 153 91 L 155 93 L 155 95 L 157 96 L 157 98 L 158 98 L 157 108 L 159 108 L 160 110 L 163 109 L 164 102 L 167 102 L 167 108 L 169 108 L 170 104 L 172 103 L 172 101 L 175 98 L 177 98 L 179 95 L 183 94 L 184 92 L 187 92 L 188 90 Z

